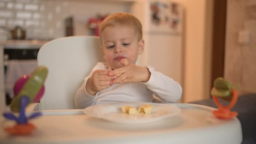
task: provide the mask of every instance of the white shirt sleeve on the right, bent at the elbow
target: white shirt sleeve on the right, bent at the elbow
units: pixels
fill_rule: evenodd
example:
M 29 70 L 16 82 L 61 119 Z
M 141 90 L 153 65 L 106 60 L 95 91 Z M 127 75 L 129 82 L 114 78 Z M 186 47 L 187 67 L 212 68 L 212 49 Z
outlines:
M 154 68 L 148 67 L 151 72 L 149 81 L 144 83 L 147 88 L 157 95 L 163 102 L 177 102 L 181 99 L 181 85 L 172 78 L 156 72 Z

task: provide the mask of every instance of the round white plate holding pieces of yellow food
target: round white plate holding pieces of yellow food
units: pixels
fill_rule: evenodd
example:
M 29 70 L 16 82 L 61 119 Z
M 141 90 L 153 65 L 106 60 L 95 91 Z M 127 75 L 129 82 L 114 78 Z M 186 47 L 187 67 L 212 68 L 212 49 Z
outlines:
M 142 104 L 152 105 L 152 114 L 138 114 L 128 115 L 122 112 L 121 106 L 128 105 L 139 108 Z M 139 124 L 139 123 L 151 123 L 157 120 L 161 120 L 165 117 L 172 117 L 178 115 L 181 109 L 179 107 L 169 104 L 159 103 L 137 103 L 137 102 L 121 102 L 111 104 L 98 104 L 84 109 L 84 113 L 91 117 L 97 117 L 104 120 L 108 120 L 115 123 L 125 124 Z

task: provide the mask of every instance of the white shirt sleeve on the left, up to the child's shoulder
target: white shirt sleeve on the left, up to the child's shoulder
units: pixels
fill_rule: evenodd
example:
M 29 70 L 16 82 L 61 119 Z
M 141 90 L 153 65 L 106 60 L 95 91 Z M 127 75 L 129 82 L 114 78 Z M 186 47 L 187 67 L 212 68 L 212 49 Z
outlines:
M 96 99 L 98 97 L 99 92 L 96 93 L 95 96 L 91 96 L 85 90 L 85 85 L 87 80 L 97 69 L 104 69 L 104 64 L 102 62 L 97 63 L 96 66 L 93 67 L 93 69 L 91 70 L 90 74 L 87 77 L 85 77 L 82 86 L 77 90 L 75 95 L 75 106 L 77 109 L 84 109 L 85 107 L 89 107 L 96 103 Z

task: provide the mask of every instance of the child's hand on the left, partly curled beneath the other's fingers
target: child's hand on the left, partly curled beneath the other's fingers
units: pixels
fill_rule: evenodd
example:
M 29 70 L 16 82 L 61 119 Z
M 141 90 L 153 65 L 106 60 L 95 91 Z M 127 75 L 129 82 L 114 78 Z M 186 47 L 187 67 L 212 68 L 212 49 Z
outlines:
M 111 86 L 110 81 L 117 78 L 116 75 L 109 76 L 111 70 L 98 69 L 93 72 L 93 75 L 87 80 L 85 85 L 86 92 L 94 96 L 98 91 Z

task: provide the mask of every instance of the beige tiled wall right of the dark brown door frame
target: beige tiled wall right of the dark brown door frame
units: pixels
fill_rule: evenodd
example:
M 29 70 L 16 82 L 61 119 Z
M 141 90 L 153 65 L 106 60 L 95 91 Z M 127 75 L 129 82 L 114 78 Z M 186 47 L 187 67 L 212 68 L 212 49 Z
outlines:
M 239 43 L 240 30 L 250 33 Z M 237 84 L 240 94 L 256 93 L 256 0 L 228 0 L 224 77 Z

